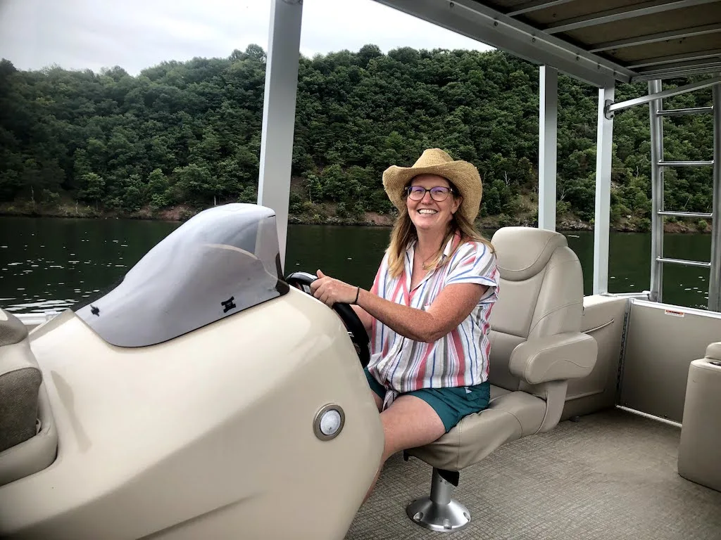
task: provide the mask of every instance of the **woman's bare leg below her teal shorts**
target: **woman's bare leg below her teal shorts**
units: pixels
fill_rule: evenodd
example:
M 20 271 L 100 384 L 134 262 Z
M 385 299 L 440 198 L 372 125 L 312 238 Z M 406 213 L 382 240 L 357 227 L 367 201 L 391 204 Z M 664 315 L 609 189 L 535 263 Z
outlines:
M 390 456 L 401 450 L 432 443 L 446 433 L 446 427 L 435 410 L 420 397 L 412 395 L 402 395 L 394 400 L 390 407 L 381 413 L 381 423 L 385 438 L 383 456 L 363 503 L 371 496 L 381 470 Z

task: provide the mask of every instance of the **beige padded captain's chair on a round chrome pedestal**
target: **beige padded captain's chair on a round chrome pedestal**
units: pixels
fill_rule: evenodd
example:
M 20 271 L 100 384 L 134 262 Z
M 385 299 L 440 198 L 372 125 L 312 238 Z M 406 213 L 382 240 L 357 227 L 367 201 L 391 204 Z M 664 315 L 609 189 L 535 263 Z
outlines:
M 491 315 L 489 408 L 406 452 L 433 467 L 430 496 L 412 501 L 407 514 L 435 531 L 470 521 L 469 510 L 451 500 L 459 471 L 502 444 L 554 428 L 567 380 L 585 377 L 596 364 L 596 340 L 580 332 L 583 274 L 565 236 L 507 227 L 492 243 L 500 294 Z

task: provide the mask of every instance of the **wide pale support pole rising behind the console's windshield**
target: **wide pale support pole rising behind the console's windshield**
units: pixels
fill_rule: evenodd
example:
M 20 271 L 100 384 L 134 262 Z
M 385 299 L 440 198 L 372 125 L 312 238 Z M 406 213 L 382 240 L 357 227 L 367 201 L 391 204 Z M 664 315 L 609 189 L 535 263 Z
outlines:
M 275 210 L 283 268 L 286 263 L 302 14 L 301 0 L 272 0 L 265 63 L 258 204 Z

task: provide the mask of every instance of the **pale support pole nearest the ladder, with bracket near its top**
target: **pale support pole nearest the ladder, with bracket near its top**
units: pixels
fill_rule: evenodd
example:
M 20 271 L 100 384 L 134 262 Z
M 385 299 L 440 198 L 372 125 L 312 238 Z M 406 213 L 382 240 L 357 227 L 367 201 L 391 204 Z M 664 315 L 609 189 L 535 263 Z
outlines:
M 606 101 L 614 101 L 614 86 L 598 89 L 596 139 L 596 215 L 593 222 L 593 294 L 609 292 L 609 230 L 611 228 L 611 140 L 614 120 L 606 118 Z

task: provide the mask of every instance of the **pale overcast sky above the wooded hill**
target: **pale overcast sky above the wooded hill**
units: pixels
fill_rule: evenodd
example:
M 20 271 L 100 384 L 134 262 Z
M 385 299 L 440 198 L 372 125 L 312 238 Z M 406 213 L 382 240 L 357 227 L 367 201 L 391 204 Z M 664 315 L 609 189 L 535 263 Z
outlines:
M 281 1 L 281 0 L 278 0 Z M 267 50 L 271 0 L 0 0 L 0 58 L 19 69 L 120 66 Z M 304 0 L 301 54 L 490 47 L 373 0 Z

